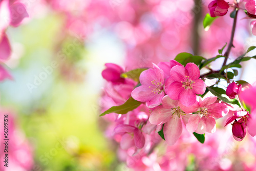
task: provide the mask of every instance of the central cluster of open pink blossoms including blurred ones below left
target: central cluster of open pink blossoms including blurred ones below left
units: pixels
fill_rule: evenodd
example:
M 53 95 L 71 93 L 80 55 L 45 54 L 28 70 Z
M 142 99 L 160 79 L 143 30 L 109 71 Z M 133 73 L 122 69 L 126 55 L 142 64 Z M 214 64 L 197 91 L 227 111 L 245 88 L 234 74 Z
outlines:
M 168 145 L 175 145 L 184 132 L 192 137 L 194 132 L 215 133 L 215 119 L 228 113 L 227 105 L 217 97 L 198 96 L 205 92 L 206 86 L 194 63 L 187 63 L 185 67 L 175 60 L 153 63 L 153 68 L 140 74 L 141 86 L 138 87 L 132 79 L 121 77 L 124 72 L 121 67 L 113 63 L 105 66 L 102 76 L 108 83 L 101 98 L 102 112 L 123 104 L 131 96 L 141 102 L 125 115 L 104 116 L 111 121 L 106 134 L 120 144 L 119 158 L 129 167 L 152 167 L 154 163 L 146 162 L 148 160 L 154 160 L 155 167 L 164 167 L 155 161 L 155 152 L 148 156 L 162 139 L 159 131 L 163 130 Z

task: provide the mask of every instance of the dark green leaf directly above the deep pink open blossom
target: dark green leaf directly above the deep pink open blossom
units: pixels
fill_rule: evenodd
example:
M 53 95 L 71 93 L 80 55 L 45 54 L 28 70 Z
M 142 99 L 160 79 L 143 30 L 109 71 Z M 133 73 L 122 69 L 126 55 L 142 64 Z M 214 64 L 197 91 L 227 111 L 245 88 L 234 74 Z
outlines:
M 174 60 L 176 60 L 177 62 L 180 62 L 181 65 L 185 66 L 189 62 L 194 62 L 196 65 L 200 65 L 202 60 L 206 60 L 206 59 L 202 56 L 194 56 L 190 53 L 183 52 L 183 53 L 179 53 Z

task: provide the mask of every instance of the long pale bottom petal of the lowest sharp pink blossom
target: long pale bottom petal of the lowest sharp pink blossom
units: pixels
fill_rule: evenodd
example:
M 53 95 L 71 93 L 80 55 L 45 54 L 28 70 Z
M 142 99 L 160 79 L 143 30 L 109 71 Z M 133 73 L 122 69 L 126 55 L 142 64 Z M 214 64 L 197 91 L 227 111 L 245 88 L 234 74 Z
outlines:
M 182 133 L 182 123 L 177 115 L 174 115 L 163 126 L 163 134 L 168 145 L 174 145 Z

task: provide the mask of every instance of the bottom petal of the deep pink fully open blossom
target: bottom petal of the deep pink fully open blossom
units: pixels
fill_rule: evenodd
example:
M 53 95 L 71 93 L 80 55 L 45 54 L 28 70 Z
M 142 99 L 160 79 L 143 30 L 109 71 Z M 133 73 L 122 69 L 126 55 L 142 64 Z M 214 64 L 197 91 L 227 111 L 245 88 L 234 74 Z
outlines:
M 196 100 L 197 96 L 191 89 L 185 89 L 180 93 L 180 102 L 185 106 L 194 104 Z

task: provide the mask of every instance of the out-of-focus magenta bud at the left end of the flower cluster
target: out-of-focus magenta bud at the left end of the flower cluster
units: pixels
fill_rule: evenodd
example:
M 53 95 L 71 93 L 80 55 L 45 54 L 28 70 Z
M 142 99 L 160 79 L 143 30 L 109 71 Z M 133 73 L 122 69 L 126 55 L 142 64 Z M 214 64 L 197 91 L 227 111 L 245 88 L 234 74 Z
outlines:
M 124 78 L 121 74 L 124 72 L 123 69 L 114 63 L 105 63 L 106 69 L 102 71 L 102 77 L 114 84 L 124 83 Z

